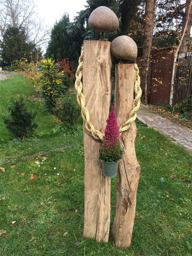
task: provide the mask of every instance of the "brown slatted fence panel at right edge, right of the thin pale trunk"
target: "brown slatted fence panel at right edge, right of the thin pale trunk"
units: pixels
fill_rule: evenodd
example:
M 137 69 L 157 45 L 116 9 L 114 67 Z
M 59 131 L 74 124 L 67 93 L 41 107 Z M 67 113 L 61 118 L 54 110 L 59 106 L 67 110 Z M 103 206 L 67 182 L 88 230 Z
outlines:
M 192 52 L 178 55 L 174 81 L 173 105 L 192 110 Z

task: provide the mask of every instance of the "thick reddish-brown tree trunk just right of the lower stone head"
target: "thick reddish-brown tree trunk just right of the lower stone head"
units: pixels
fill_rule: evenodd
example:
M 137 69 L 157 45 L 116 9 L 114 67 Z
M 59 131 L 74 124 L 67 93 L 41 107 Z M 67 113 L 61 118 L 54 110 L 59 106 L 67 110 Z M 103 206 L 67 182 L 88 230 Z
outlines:
M 153 27 L 154 27 L 154 5 L 155 0 L 145 0 L 145 17 L 143 21 L 143 53 L 142 53 L 142 74 L 141 89 L 143 91 L 142 101 L 147 103 L 147 77 L 149 73 L 149 57 L 151 54 Z

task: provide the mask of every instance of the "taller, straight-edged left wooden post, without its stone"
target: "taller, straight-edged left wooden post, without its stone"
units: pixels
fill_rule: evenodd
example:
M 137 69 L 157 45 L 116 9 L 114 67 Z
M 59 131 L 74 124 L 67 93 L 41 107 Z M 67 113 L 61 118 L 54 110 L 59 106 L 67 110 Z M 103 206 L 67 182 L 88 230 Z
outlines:
M 90 122 L 104 133 L 111 102 L 111 43 L 84 41 L 83 94 Z M 98 159 L 101 143 L 84 127 L 85 237 L 107 242 L 110 226 L 111 180 L 102 174 Z

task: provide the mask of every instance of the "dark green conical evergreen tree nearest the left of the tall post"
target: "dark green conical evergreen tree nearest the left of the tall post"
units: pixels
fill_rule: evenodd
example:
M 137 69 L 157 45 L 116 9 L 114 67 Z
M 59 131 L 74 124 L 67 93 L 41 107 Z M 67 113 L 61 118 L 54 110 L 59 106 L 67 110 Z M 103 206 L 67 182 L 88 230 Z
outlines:
M 65 13 L 59 22 L 56 22 L 51 30 L 51 39 L 45 54 L 46 58 L 61 61 L 63 58 L 77 61 L 79 52 L 73 35 L 68 34 L 69 15 Z

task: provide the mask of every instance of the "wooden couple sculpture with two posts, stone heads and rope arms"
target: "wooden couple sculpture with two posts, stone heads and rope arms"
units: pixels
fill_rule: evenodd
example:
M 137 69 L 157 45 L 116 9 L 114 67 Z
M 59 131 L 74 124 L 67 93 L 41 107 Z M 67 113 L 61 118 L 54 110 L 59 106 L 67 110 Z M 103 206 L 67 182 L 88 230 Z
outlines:
M 102 32 L 119 26 L 117 16 L 105 6 L 95 9 L 89 25 Z M 83 235 L 107 242 L 110 226 L 111 180 L 102 173 L 98 152 L 104 138 L 111 103 L 112 54 L 121 60 L 135 60 L 137 45 L 127 36 L 108 41 L 84 41 L 76 72 L 77 101 L 83 117 L 85 148 L 85 219 Z M 82 84 L 83 75 L 83 84 Z M 113 223 L 116 246 L 131 242 L 140 166 L 134 139 L 134 120 L 140 105 L 141 88 L 136 64 L 115 66 L 115 111 L 124 151 L 117 173 L 117 207 Z M 82 91 L 83 89 L 83 91 Z

